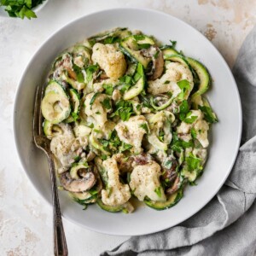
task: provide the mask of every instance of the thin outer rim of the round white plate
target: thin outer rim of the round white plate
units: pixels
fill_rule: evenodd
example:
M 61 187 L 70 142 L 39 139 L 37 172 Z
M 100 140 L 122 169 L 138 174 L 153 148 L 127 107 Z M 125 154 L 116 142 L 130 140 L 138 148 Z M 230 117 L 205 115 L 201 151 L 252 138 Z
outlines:
M 47 2 L 47 1 L 46 1 Z M 28 172 L 26 171 L 26 168 L 25 168 L 25 163 L 24 161 L 21 159 L 20 157 L 20 150 L 19 148 L 17 147 L 17 141 L 18 141 L 18 135 L 17 135 L 17 131 L 16 131 L 16 121 L 15 121 L 15 116 L 16 116 L 16 113 L 15 113 L 15 110 L 17 108 L 17 99 L 18 99 L 18 96 L 19 96 L 19 92 L 20 92 L 20 88 L 21 88 L 21 84 L 23 83 L 23 80 L 25 79 L 25 76 L 26 76 L 26 73 L 29 69 L 29 67 L 31 66 L 31 63 L 32 61 L 36 58 L 36 56 L 38 55 L 38 52 L 44 47 L 44 44 L 47 44 L 49 42 L 49 40 L 51 40 L 51 38 L 53 38 L 57 33 L 61 32 L 62 29 L 64 29 L 66 26 L 72 26 L 73 23 L 76 23 L 78 22 L 79 20 L 83 20 L 85 17 L 88 17 L 88 16 L 93 16 L 93 15 L 102 15 L 102 13 L 108 13 L 108 12 L 111 12 L 111 11 L 132 11 L 132 10 L 141 10 L 143 12 L 151 12 L 151 13 L 154 13 L 154 14 L 157 14 L 157 15 L 165 15 L 165 16 L 171 16 L 172 19 L 174 20 L 177 20 L 178 22 L 180 23 L 183 23 L 184 26 L 188 26 L 190 30 L 193 30 L 199 37 L 203 37 L 205 39 L 207 39 L 201 32 L 199 32 L 197 29 L 195 29 L 194 26 L 191 26 L 189 25 L 189 23 L 173 16 L 173 15 L 170 15 L 170 14 L 167 14 L 165 12 L 162 12 L 160 10 L 155 10 L 155 9 L 149 9 L 149 8 L 135 8 L 135 7 L 130 7 L 130 8 L 112 8 L 112 9 L 102 9 L 102 10 L 99 10 L 99 11 L 95 11 L 95 12 L 92 12 L 90 14 L 87 14 L 87 15 L 82 15 L 80 16 L 79 18 L 75 19 L 75 20 L 71 20 L 67 23 L 65 23 L 63 26 L 61 26 L 59 29 L 57 29 L 55 32 L 52 32 L 48 38 L 44 39 L 43 43 L 39 45 L 38 49 L 33 53 L 32 57 L 30 58 L 30 60 L 27 62 L 27 65 L 26 67 L 23 69 L 22 71 L 22 75 L 20 77 L 20 80 L 19 80 L 19 84 L 16 88 L 16 91 L 15 91 L 15 104 L 14 104 L 14 108 L 13 108 L 13 125 L 12 125 L 12 128 L 13 128 L 13 132 L 14 132 L 14 138 L 15 138 L 15 149 L 16 149 L 16 153 L 18 155 L 18 158 L 19 158 L 19 161 L 20 161 L 20 166 L 23 170 L 23 172 L 26 173 L 26 177 L 28 178 L 28 180 L 30 181 L 30 183 L 32 184 L 32 187 L 38 192 L 38 194 L 44 199 L 44 201 L 47 202 L 47 204 L 50 206 L 50 207 L 53 207 L 52 204 L 46 199 L 46 197 L 44 196 L 43 193 L 41 193 L 41 191 L 39 191 L 37 189 L 37 187 L 34 185 L 34 183 L 32 182 L 32 178 L 29 176 Z M 208 43 L 212 44 L 212 42 L 210 40 L 208 40 Z M 239 127 L 238 127 L 238 131 L 239 131 L 239 136 L 237 137 L 237 140 L 236 140 L 236 154 L 234 154 L 233 156 L 233 159 L 230 161 L 230 166 L 229 168 L 229 171 L 226 172 L 226 175 L 223 177 L 221 183 L 218 184 L 218 186 L 216 186 L 216 189 L 214 189 L 214 193 L 212 193 L 211 196 L 209 196 L 209 198 L 202 204 L 201 207 L 197 208 L 195 211 L 193 212 L 190 212 L 189 213 L 189 216 L 187 217 L 184 217 L 182 218 L 181 220 L 177 221 L 176 223 L 174 224 L 171 224 L 171 225 L 166 225 L 166 228 L 160 228 L 159 230 L 155 229 L 154 231 L 147 231 L 147 232 L 140 232 L 140 233 L 125 233 L 125 234 L 122 234 L 122 233 L 119 233 L 119 232 L 112 232 L 111 230 L 109 231 L 105 231 L 105 230 L 100 230 L 100 229 L 97 229 L 97 228 L 92 228 L 92 227 L 89 227 L 85 224 L 82 224 L 82 223 L 79 223 L 79 221 L 75 221 L 73 218 L 69 218 L 65 213 L 61 212 L 61 215 L 62 215 L 62 218 L 65 218 L 66 220 L 70 221 L 71 223 L 73 224 L 76 224 L 78 225 L 79 227 L 82 227 L 83 229 L 87 229 L 87 230 L 91 230 L 91 231 L 96 231 L 97 233 L 101 233 L 101 234 L 105 234 L 105 235 L 110 235 L 110 236 L 143 236 L 143 235 L 149 235 L 149 234 L 154 234 L 154 233 L 157 233 L 157 232 L 160 232 L 160 231 L 163 231 L 163 230 L 167 230 L 167 229 L 170 229 L 174 226 L 176 226 L 177 224 L 181 224 L 183 223 L 183 221 L 191 218 L 192 216 L 194 216 L 197 212 L 200 212 L 201 209 L 203 207 L 206 207 L 207 204 L 212 201 L 212 198 L 218 194 L 218 191 L 219 189 L 222 188 L 222 186 L 224 185 L 224 182 L 226 181 L 226 179 L 229 177 L 230 175 L 230 172 L 232 171 L 232 168 L 235 164 L 235 161 L 236 161 L 236 157 L 237 157 L 237 154 L 238 154 L 238 151 L 239 151 L 239 148 L 240 148 L 240 143 L 241 143 L 241 132 L 242 132 L 242 108 L 241 108 L 241 97 L 240 97 L 240 94 L 239 94 L 239 90 L 238 90 L 238 87 L 237 87 L 237 84 L 236 84 L 236 79 L 234 78 L 233 76 L 233 73 L 231 72 L 231 69 L 230 67 L 228 66 L 227 62 L 224 60 L 224 57 L 223 55 L 220 54 L 220 52 L 218 51 L 218 49 L 212 44 L 212 47 L 213 49 L 215 50 L 215 53 L 218 55 L 218 57 L 223 61 L 224 63 L 224 66 L 227 70 L 227 72 L 230 74 L 230 79 L 232 79 L 232 82 L 233 84 L 235 84 L 235 88 L 234 90 L 236 91 L 236 102 L 238 103 L 238 107 L 239 107 L 239 112 L 237 113 L 238 115 L 238 119 L 239 119 Z M 39 149 L 37 149 L 39 150 Z

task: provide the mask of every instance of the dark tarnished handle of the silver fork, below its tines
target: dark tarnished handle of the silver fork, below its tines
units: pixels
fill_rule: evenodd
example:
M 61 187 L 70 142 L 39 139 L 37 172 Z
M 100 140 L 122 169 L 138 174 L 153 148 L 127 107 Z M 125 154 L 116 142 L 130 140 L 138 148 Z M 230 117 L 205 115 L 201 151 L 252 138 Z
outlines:
M 49 175 L 51 179 L 52 202 L 54 208 L 54 251 L 55 256 L 67 256 L 67 241 L 61 218 L 61 207 L 58 196 L 58 188 L 55 174 L 55 162 L 51 154 L 48 154 Z

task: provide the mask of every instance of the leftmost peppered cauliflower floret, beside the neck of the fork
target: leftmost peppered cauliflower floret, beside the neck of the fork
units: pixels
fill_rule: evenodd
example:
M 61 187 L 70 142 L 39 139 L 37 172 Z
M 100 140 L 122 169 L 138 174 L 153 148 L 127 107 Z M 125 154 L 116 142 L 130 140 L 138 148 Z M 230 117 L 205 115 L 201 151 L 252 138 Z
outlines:
M 82 153 L 83 148 L 88 145 L 87 138 L 75 138 L 72 128 L 66 124 L 59 124 L 63 133 L 53 137 L 50 142 L 50 150 L 55 155 L 56 160 L 61 163 L 58 172 L 65 172 L 73 164 L 74 158 Z

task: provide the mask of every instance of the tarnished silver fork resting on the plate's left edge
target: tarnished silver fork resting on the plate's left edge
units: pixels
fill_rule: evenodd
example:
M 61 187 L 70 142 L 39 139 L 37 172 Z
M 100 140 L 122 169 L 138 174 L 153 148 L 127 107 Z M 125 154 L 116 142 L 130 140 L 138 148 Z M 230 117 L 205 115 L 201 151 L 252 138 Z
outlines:
M 61 207 L 55 175 L 54 155 L 49 148 L 49 139 L 44 136 L 43 116 L 41 102 L 44 96 L 44 85 L 39 85 L 36 91 L 33 113 L 33 138 L 36 146 L 44 151 L 49 163 L 49 176 L 51 180 L 52 202 L 54 207 L 54 252 L 55 256 L 67 256 L 67 241 L 61 218 Z

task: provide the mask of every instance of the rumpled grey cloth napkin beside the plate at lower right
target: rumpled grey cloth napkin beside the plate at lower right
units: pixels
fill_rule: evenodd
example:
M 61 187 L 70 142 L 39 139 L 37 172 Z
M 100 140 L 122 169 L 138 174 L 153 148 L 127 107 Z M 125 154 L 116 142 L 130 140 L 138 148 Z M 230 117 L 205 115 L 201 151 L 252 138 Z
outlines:
M 182 224 L 133 236 L 106 255 L 256 255 L 256 27 L 233 73 L 241 96 L 243 131 L 235 166 L 223 188 Z

